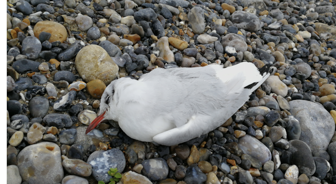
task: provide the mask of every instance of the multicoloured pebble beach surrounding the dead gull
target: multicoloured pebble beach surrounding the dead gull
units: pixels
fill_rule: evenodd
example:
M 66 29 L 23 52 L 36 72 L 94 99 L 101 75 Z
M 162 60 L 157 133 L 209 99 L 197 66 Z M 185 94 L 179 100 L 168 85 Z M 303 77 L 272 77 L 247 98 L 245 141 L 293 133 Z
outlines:
M 336 184 L 335 8 L 7 0 L 7 184 L 108 184 L 110 168 L 118 184 Z M 163 146 L 113 120 L 85 134 L 113 80 L 241 62 L 273 72 L 208 134 Z

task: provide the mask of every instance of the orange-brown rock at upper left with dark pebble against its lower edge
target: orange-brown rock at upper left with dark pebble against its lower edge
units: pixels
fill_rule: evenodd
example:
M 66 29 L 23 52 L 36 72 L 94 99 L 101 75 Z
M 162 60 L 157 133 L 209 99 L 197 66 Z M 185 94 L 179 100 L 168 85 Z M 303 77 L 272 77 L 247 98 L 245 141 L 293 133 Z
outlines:
M 54 41 L 60 41 L 63 43 L 67 40 L 67 30 L 65 27 L 57 22 L 53 21 L 40 21 L 36 23 L 34 29 L 34 35 L 35 37 L 39 37 L 41 32 L 48 32 L 51 33 L 51 37 L 48 41 L 54 42 Z

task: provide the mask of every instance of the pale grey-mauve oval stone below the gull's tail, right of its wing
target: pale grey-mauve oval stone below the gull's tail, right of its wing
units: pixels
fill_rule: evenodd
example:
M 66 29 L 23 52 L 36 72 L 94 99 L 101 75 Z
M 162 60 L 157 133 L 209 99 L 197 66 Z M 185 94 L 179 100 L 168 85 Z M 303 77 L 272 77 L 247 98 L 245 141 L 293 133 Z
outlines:
M 258 159 L 262 164 L 272 158 L 269 149 L 252 136 L 245 135 L 244 137 L 239 138 L 238 146 L 243 150 L 244 154 L 248 154 Z

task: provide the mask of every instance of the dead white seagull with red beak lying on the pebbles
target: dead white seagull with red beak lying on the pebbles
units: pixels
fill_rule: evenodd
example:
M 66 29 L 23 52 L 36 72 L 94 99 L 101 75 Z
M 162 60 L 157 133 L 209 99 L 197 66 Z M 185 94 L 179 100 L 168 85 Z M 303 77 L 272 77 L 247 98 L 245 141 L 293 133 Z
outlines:
M 209 133 L 236 113 L 270 75 L 267 67 L 242 62 L 227 68 L 157 68 L 139 80 L 114 80 L 86 133 L 112 119 L 133 139 L 166 146 L 183 143 Z

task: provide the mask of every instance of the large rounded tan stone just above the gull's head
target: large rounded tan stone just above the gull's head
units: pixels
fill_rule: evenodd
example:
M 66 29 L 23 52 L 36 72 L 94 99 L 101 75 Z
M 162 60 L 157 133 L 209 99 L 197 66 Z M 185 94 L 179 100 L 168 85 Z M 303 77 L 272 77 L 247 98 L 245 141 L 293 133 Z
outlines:
M 93 44 L 83 47 L 78 52 L 75 62 L 76 69 L 85 82 L 100 79 L 109 85 L 119 70 L 107 51 Z

